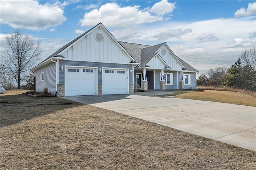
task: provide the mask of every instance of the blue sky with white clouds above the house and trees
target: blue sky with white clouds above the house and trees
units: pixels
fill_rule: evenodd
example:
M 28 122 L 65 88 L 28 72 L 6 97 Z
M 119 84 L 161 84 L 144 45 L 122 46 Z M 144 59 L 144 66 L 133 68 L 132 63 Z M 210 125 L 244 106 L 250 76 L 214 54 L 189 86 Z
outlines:
M 41 41 L 41 58 L 99 22 L 119 41 L 172 51 L 201 73 L 230 67 L 256 45 L 255 1 L 5 1 L 0 2 L 1 51 L 17 28 Z

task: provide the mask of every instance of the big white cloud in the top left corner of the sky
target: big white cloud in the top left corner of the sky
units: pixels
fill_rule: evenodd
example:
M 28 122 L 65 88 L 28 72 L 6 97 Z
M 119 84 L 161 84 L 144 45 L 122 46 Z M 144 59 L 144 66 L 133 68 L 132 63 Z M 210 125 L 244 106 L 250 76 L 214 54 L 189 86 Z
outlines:
M 66 21 L 63 10 L 54 4 L 35 0 L 1 1 L 1 23 L 13 28 L 43 30 Z

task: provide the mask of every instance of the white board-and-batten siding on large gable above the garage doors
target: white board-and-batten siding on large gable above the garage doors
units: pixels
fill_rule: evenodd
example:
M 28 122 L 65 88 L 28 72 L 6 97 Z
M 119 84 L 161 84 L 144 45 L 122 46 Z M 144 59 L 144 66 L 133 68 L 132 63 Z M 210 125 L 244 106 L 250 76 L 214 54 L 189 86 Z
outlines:
M 95 40 L 95 34 L 101 32 L 104 36 L 102 42 Z M 74 45 L 60 53 L 65 60 L 90 61 L 102 63 L 128 64 L 131 58 L 126 52 L 123 53 L 120 44 L 111 39 L 104 29 L 92 30 L 87 36 L 76 42 Z

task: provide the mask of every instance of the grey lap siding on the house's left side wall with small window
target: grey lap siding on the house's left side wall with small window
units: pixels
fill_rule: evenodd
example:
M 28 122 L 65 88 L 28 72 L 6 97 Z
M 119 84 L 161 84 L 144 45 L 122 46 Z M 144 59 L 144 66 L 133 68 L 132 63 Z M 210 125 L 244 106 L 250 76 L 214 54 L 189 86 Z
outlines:
M 44 81 L 41 81 L 41 73 L 44 72 Z M 34 73 L 36 77 L 36 91 L 44 91 L 44 87 L 48 88 L 48 92 L 55 94 L 56 92 L 56 63 L 50 63 Z

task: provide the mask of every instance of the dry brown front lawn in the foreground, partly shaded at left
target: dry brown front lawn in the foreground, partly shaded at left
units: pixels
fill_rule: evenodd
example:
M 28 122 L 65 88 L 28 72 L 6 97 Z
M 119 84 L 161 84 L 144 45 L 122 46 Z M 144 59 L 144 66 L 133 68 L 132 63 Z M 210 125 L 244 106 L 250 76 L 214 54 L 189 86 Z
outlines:
M 256 169 L 256 152 L 61 98 L 1 95 L 0 169 Z

